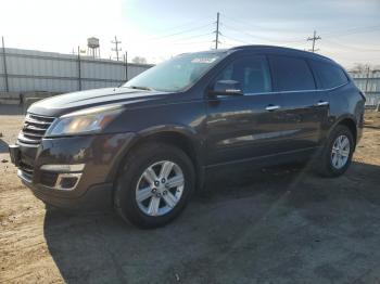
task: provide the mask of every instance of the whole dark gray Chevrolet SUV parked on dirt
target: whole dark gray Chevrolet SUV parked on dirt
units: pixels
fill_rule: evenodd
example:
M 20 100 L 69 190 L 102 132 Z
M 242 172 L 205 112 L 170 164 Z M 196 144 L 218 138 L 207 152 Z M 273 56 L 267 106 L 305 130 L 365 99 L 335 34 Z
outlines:
M 185 208 L 208 169 L 311 159 L 342 175 L 365 98 L 332 60 L 250 46 L 188 53 L 119 88 L 31 105 L 16 144 L 18 177 L 43 202 L 114 206 L 153 228 Z

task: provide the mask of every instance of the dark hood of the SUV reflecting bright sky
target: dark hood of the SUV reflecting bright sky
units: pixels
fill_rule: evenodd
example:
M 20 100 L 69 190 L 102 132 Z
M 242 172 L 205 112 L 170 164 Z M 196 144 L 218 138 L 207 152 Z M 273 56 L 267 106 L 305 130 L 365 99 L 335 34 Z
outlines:
M 34 103 L 28 113 L 61 116 L 74 111 L 106 104 L 141 105 L 165 100 L 170 93 L 128 88 L 104 88 L 65 93 Z

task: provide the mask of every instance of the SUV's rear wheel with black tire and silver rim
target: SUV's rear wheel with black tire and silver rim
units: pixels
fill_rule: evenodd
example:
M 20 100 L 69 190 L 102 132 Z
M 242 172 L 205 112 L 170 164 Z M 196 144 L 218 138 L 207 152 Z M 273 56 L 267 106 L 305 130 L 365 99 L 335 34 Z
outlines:
M 327 139 L 317 162 L 317 171 L 324 177 L 339 177 L 350 167 L 354 153 L 354 138 L 351 130 L 337 126 Z

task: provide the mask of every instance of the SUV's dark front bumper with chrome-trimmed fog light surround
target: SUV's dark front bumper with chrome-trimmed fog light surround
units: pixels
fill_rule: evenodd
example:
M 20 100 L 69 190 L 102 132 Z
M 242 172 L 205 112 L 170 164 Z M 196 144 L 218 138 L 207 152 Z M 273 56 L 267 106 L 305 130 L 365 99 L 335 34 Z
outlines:
M 18 167 L 17 176 L 45 203 L 63 208 L 104 208 L 112 205 L 113 181 L 134 138 L 129 132 L 42 139 L 38 146 L 11 146 L 10 154 Z M 75 167 L 64 170 L 62 165 Z M 61 186 L 64 179 L 67 185 L 67 177 L 77 179 Z

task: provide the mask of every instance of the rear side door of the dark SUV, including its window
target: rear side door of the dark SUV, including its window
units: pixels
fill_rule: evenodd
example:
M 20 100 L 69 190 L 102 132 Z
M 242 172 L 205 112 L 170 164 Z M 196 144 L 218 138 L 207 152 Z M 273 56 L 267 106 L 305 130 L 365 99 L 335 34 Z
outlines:
M 327 118 L 328 95 L 316 88 L 313 72 L 303 57 L 269 55 L 274 88 L 281 93 L 287 151 L 315 147 Z

